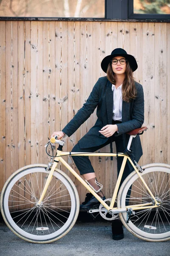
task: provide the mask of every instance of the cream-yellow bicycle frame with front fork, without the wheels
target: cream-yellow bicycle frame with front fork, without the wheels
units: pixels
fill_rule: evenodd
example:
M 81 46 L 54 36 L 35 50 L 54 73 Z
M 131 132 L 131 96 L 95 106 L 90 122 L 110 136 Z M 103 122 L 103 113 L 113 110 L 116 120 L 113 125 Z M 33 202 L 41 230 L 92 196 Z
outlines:
M 116 182 L 116 186 L 115 186 L 115 189 L 114 189 L 114 192 L 113 192 L 113 197 L 112 197 L 112 200 L 111 200 L 111 204 L 110 206 L 108 206 L 108 204 L 106 204 L 102 198 L 99 197 L 99 195 L 96 194 L 96 192 L 91 189 L 91 187 L 74 171 L 74 169 L 71 168 L 71 166 L 68 165 L 68 163 L 62 158 L 62 156 L 65 156 L 65 155 L 74 155 L 74 156 L 105 156 L 105 157 L 124 157 L 123 159 L 123 162 L 122 162 L 122 166 L 121 166 L 121 169 L 120 169 L 120 172 L 119 172 L 119 176 L 118 176 L 118 179 L 117 179 L 117 182 Z M 155 201 L 155 205 L 153 205 L 152 203 L 146 203 L 146 204 L 137 204 L 137 205 L 128 205 L 126 206 L 126 208 L 124 209 L 124 211 L 128 210 L 129 208 L 132 209 L 132 210 L 137 210 L 137 209 L 149 209 L 149 208 L 156 208 L 156 207 L 159 207 L 159 203 L 156 201 L 156 198 L 154 197 L 154 195 L 152 194 L 152 192 L 150 191 L 150 189 L 148 188 L 147 184 L 145 183 L 144 179 L 142 178 L 142 176 L 140 175 L 140 172 L 138 171 L 138 169 L 136 168 L 136 166 L 133 164 L 132 160 L 130 159 L 130 157 L 128 157 L 127 155 L 123 154 L 123 153 L 118 153 L 118 154 L 115 154 L 115 153 L 86 153 L 86 152 L 81 152 L 81 153 L 77 153 L 77 152 L 63 152 L 63 151 L 60 151 L 60 150 L 57 150 L 57 154 L 56 154 L 56 157 L 54 158 L 54 163 L 53 163 L 53 166 L 51 167 L 51 171 L 48 175 L 48 178 L 46 180 L 46 183 L 45 183 L 45 186 L 44 186 L 44 189 L 42 191 L 42 194 L 40 196 L 40 200 L 38 202 L 38 205 L 41 205 L 41 202 L 44 198 L 44 195 L 45 195 L 45 192 L 47 191 L 48 189 L 48 186 L 50 184 L 50 181 L 52 179 L 52 176 L 53 176 L 53 173 L 57 167 L 57 164 L 59 163 L 59 161 L 82 183 L 83 186 L 85 186 L 86 189 L 88 189 L 89 192 L 91 192 L 92 195 L 94 195 L 94 197 L 108 210 L 108 212 L 110 210 L 122 210 L 122 208 L 117 208 L 117 207 L 114 207 L 113 208 L 113 205 L 115 203 L 115 200 L 116 200 L 116 195 L 118 193 L 118 189 L 119 189 L 119 185 L 120 185 L 120 182 L 121 182 L 121 179 L 122 179 L 122 175 L 123 175 L 123 172 L 124 172 L 124 169 L 125 169 L 125 164 L 127 162 L 127 159 L 130 161 L 131 165 L 133 166 L 134 170 L 136 171 L 137 175 L 139 176 L 139 178 L 142 180 L 142 183 L 144 183 L 144 186 L 146 187 L 147 191 L 149 192 L 150 196 L 152 197 L 152 199 Z

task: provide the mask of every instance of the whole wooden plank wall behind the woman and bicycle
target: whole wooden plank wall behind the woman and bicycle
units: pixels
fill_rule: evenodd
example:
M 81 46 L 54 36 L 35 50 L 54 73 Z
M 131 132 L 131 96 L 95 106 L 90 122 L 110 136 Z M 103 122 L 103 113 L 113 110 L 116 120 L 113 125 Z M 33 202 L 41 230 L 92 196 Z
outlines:
M 135 56 L 139 68 L 134 77 L 144 87 L 148 131 L 142 136 L 140 164 L 170 163 L 169 23 L 0 21 L 0 191 L 18 168 L 47 163 L 48 137 L 81 108 L 97 79 L 105 76 L 102 59 L 116 47 Z M 66 137 L 65 151 L 95 121 L 94 113 Z M 100 151 L 109 151 L 109 146 Z M 96 157 L 92 163 L 110 197 L 116 159 Z M 82 201 L 85 189 L 74 182 Z

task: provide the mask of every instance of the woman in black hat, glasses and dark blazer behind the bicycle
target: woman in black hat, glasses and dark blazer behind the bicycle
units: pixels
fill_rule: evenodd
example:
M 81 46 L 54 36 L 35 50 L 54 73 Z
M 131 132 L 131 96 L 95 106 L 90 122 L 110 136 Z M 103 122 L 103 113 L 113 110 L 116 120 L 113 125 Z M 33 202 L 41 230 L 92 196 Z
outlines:
M 88 97 L 86 103 L 77 112 L 74 118 L 62 129 L 52 134 L 59 135 L 61 139 L 65 134 L 70 137 L 82 123 L 84 123 L 97 107 L 97 121 L 95 125 L 82 137 L 72 149 L 73 152 L 94 152 L 113 141 L 116 143 L 116 151 L 122 152 L 127 146 L 129 135 L 127 131 L 140 128 L 144 122 L 144 94 L 142 85 L 134 81 L 133 72 L 138 65 L 136 59 L 127 54 L 122 48 L 114 49 L 111 55 L 106 56 L 101 63 L 102 70 L 107 76 L 99 78 Z M 132 150 L 135 152 L 135 159 L 138 162 L 142 156 L 142 146 L 139 135 L 133 140 Z M 96 190 L 99 185 L 96 183 L 96 175 L 88 157 L 72 156 L 79 169 L 80 174 Z M 122 157 L 117 159 L 118 174 L 122 164 Z M 131 172 L 128 163 L 125 166 L 123 180 Z M 101 190 L 97 193 L 105 199 Z M 89 209 L 99 205 L 99 201 L 88 193 L 85 201 L 80 205 L 81 209 Z M 116 222 L 114 221 L 116 224 Z M 120 230 L 113 239 L 122 239 L 122 226 L 117 222 Z

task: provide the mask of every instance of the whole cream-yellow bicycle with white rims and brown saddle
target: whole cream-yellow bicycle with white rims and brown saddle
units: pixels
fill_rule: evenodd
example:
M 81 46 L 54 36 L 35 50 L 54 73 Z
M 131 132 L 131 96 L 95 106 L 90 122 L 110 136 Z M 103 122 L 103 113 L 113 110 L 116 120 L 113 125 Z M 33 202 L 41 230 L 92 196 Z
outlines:
M 99 212 L 108 220 L 113 220 L 119 215 L 127 230 L 140 239 L 169 240 L 170 165 L 153 163 L 141 167 L 133 159 L 130 150 L 133 137 L 142 134 L 146 129 L 147 127 L 143 127 L 127 133 L 130 138 L 123 153 L 63 152 L 65 142 L 52 137 L 45 146 L 57 143 L 59 147 L 54 160 L 51 156 L 48 166 L 25 166 L 14 172 L 6 181 L 0 207 L 7 226 L 17 236 L 32 243 L 49 243 L 62 238 L 71 230 L 79 213 L 79 195 L 70 177 L 57 169 L 60 161 L 100 202 L 98 209 L 89 209 L 90 213 Z M 123 157 L 112 198 L 103 201 L 62 158 L 71 157 L 73 154 Z M 134 171 L 119 189 L 127 160 Z M 115 201 L 117 207 L 113 207 Z

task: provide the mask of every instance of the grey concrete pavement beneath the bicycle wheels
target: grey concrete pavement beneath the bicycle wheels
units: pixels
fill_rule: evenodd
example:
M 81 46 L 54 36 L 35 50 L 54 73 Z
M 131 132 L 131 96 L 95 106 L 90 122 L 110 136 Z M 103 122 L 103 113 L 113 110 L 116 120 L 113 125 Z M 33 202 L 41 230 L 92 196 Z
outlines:
M 169 256 L 170 242 L 147 242 L 124 228 L 125 238 L 114 241 L 111 222 L 77 221 L 62 239 L 51 244 L 31 244 L 0 223 L 0 256 Z

